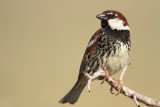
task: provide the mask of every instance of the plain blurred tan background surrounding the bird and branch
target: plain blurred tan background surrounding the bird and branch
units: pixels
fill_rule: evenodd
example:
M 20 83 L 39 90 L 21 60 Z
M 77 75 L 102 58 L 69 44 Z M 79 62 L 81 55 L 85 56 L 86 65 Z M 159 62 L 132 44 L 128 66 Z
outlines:
M 131 28 L 124 84 L 160 100 L 159 0 L 0 0 L 0 107 L 70 107 L 58 101 L 76 82 L 87 43 L 100 28 L 95 16 L 107 9 L 122 12 Z M 85 88 L 73 107 L 135 107 L 100 82 L 92 82 L 91 93 Z

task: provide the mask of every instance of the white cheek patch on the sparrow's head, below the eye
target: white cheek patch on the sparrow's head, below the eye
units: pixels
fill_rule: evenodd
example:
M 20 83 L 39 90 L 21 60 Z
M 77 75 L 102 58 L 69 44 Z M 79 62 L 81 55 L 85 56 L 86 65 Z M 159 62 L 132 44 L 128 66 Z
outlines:
M 114 30 L 129 30 L 129 26 L 124 26 L 123 24 L 124 22 L 118 18 L 115 19 L 109 19 L 108 20 L 108 24 L 110 25 L 110 27 Z

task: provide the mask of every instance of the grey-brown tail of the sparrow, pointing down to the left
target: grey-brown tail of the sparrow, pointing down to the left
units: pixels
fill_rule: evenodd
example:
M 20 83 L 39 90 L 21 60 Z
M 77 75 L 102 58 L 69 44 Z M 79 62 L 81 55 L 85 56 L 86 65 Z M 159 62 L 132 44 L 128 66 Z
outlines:
M 84 76 L 80 77 L 74 87 L 59 101 L 59 103 L 74 104 L 78 100 L 86 84 L 86 78 Z

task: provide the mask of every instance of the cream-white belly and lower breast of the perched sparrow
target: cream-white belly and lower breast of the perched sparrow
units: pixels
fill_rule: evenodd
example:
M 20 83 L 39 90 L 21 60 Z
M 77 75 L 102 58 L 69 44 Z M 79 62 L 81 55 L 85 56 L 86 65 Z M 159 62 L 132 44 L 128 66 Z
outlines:
M 117 72 L 121 72 L 125 66 L 128 65 L 129 49 L 128 45 L 122 42 L 115 44 L 113 49 L 107 58 L 107 69 L 109 75 L 113 75 Z

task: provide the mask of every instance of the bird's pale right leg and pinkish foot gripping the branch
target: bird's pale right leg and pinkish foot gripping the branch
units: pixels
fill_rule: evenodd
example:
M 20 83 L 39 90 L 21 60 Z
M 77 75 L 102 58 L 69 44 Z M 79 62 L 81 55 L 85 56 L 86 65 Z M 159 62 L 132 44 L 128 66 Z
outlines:
M 125 68 L 123 69 L 121 75 L 120 75 L 120 79 L 118 80 L 118 85 L 117 85 L 117 88 L 118 88 L 118 93 L 116 95 L 118 95 L 121 91 L 123 91 L 123 82 L 122 82 L 122 79 L 123 79 L 123 76 L 124 76 L 124 73 L 126 72 L 128 68 L 128 65 L 125 66 Z

